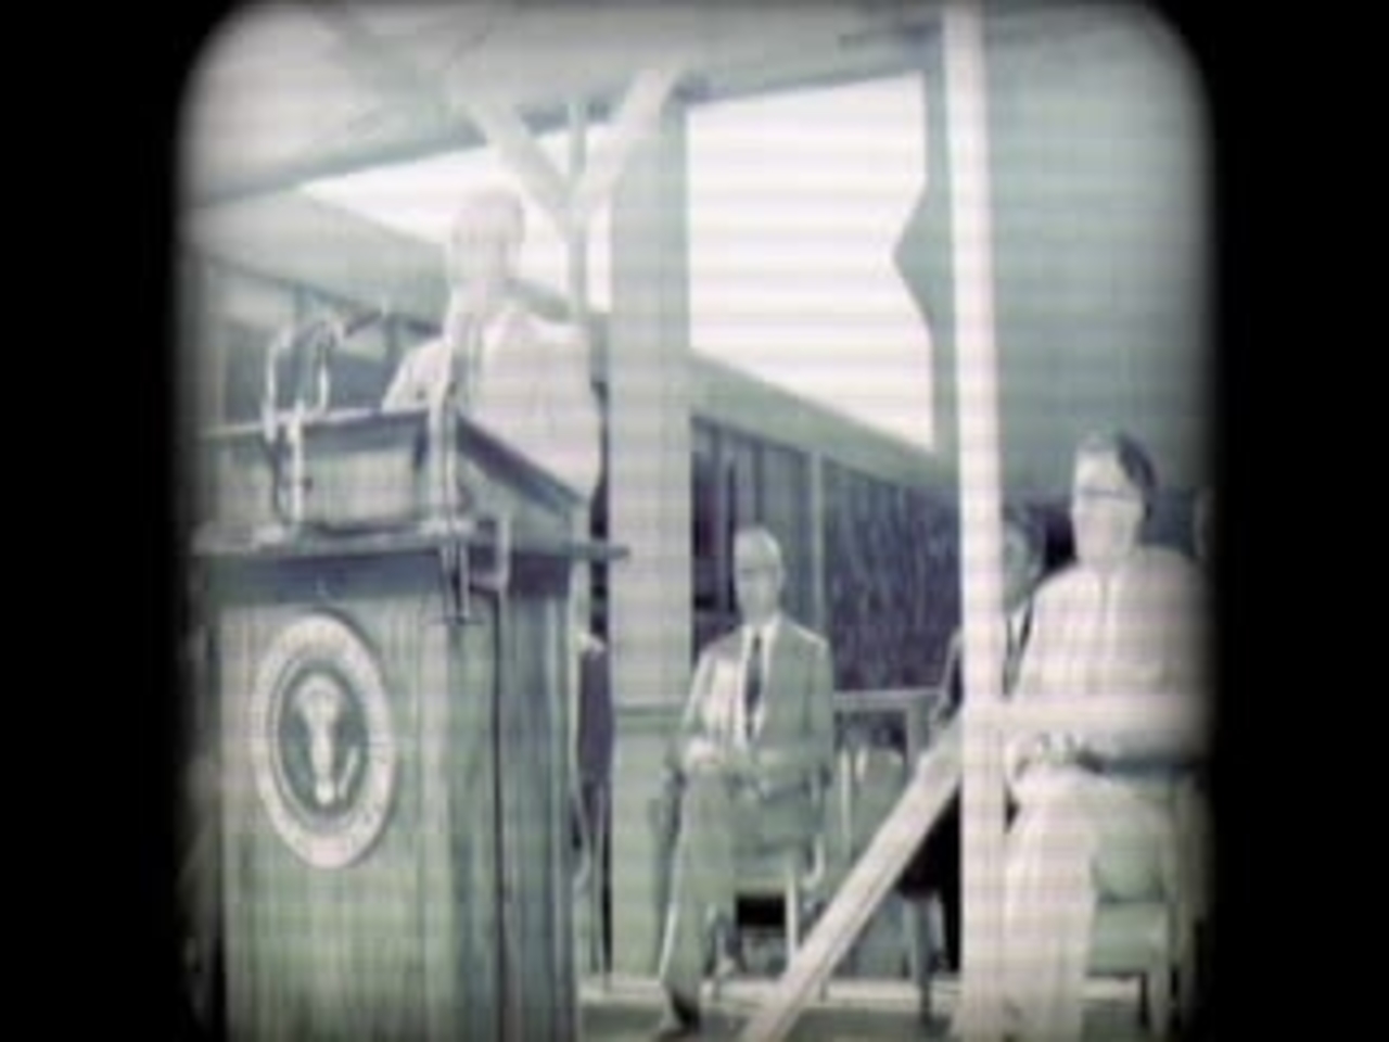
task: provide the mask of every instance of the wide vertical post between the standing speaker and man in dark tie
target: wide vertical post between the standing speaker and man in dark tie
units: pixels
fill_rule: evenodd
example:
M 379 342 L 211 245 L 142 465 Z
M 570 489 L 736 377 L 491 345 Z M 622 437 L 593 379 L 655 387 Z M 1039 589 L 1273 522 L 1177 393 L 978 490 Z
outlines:
M 690 678 L 689 235 L 685 113 L 671 106 L 633 150 L 613 200 L 610 539 L 614 963 L 650 974 L 658 945 L 649 804 Z M 663 720 L 642 732 L 640 707 Z M 668 716 L 669 724 L 664 717 Z

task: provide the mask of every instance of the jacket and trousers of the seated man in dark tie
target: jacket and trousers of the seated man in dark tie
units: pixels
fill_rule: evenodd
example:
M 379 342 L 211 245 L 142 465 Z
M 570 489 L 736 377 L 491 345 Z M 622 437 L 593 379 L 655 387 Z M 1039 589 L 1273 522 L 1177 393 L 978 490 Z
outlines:
M 681 774 L 693 742 L 751 753 L 749 775 L 696 770 L 681 777 L 679 834 L 660 959 L 663 984 L 697 1003 L 707 927 L 732 918 L 738 856 L 804 843 L 821 828 L 813 782 L 828 779 L 835 756 L 833 661 L 828 642 L 779 617 L 764 653 L 761 710 L 745 731 L 743 677 L 749 640 L 739 628 L 701 653 L 669 767 Z

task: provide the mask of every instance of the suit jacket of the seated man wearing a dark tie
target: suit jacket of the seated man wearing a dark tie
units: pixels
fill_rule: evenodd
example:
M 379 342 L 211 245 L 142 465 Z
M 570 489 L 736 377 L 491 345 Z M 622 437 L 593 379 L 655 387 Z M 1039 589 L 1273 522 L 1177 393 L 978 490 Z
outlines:
M 764 803 L 804 799 L 807 784 L 817 777 L 828 779 L 833 770 L 835 671 L 829 643 L 782 615 L 767 654 L 761 727 L 751 739 L 736 727 L 742 720 L 742 628 L 700 653 L 669 764 L 679 770 L 681 754 L 694 738 L 747 743 Z

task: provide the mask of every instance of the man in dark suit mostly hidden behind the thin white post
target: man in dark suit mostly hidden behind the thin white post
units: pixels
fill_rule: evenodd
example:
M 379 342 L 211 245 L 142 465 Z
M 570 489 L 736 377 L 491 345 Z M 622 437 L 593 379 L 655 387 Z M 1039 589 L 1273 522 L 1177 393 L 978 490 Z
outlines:
M 1032 590 L 1042 578 L 1045 565 L 1046 531 L 1042 520 L 1022 506 L 1008 507 L 1003 515 L 1003 610 L 1007 613 L 1004 696 L 1013 689 L 1017 667 L 1022 660 L 1022 649 L 1032 628 Z M 945 727 L 960 709 L 964 697 L 963 672 L 960 632 L 956 631 L 946 654 L 945 699 L 933 711 L 932 732 Z M 924 898 L 926 893 L 940 898 L 946 932 L 945 963 L 954 971 L 960 968 L 960 796 L 956 795 L 897 884 L 908 898 Z

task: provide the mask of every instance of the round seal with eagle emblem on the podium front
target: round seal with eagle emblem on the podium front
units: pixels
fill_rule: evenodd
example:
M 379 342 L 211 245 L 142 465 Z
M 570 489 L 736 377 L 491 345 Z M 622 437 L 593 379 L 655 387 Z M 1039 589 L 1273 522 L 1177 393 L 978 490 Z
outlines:
M 256 788 L 275 831 L 317 868 L 344 868 L 381 835 L 396 743 L 375 653 L 328 613 L 269 643 L 250 704 Z

